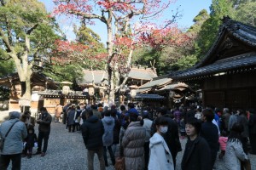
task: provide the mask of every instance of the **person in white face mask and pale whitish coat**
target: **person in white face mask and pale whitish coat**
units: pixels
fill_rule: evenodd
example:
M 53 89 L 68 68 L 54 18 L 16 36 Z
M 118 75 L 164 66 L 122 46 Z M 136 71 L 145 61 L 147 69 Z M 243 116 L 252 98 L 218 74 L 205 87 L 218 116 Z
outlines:
M 174 169 L 172 154 L 163 138 L 163 135 L 168 131 L 168 122 L 165 117 L 161 116 L 156 118 L 155 125 L 156 133 L 149 139 L 148 170 L 172 170 Z

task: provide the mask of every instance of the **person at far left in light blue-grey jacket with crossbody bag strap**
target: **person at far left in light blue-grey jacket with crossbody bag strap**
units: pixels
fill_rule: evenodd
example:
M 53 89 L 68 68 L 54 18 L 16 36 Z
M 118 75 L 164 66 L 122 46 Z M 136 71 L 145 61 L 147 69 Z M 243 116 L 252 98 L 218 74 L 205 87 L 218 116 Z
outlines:
M 15 125 L 9 131 L 14 123 Z M 19 112 L 10 112 L 9 120 L 2 123 L 1 135 L 4 137 L 8 131 L 9 134 L 5 138 L 3 150 L 1 150 L 0 169 L 7 169 L 10 161 L 12 161 L 12 169 L 20 169 L 23 140 L 26 139 L 27 132 L 25 123 L 20 121 Z

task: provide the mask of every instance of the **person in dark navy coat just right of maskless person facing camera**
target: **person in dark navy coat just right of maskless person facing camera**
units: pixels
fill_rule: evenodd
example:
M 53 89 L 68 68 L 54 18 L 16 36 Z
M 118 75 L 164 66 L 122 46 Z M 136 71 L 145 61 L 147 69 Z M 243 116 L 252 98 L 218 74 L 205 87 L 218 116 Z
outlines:
M 217 152 L 219 150 L 218 144 L 218 127 L 212 123 L 214 119 L 214 113 L 211 109 L 205 109 L 202 111 L 202 125 L 201 125 L 201 137 L 207 140 L 207 143 L 211 149 L 212 156 L 212 168 L 214 166 Z

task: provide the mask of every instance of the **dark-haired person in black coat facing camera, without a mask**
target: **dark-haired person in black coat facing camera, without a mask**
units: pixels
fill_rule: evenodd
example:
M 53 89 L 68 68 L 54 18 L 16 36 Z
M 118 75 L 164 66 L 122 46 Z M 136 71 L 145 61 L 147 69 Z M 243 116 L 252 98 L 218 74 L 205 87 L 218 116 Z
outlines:
M 201 122 L 195 117 L 187 120 L 186 133 L 189 138 L 183 154 L 182 170 L 212 170 L 210 147 L 199 136 L 200 129 Z

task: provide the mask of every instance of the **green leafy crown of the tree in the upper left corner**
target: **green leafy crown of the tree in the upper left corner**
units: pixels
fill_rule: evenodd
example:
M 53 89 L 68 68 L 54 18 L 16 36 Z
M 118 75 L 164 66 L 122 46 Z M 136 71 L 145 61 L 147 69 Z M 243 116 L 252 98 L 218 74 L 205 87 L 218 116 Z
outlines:
M 26 51 L 26 36 L 30 40 L 28 62 L 37 57 L 44 57 L 52 48 L 55 40 L 60 38 L 56 31 L 58 26 L 49 17 L 44 3 L 38 0 L 9 0 L 0 8 L 0 28 L 8 37 L 15 54 L 21 56 Z M 3 37 L 0 37 L 1 40 Z M 3 41 L 0 41 L 3 44 Z M 3 45 L 6 45 L 5 43 Z M 7 47 L 2 50 L 9 54 Z

